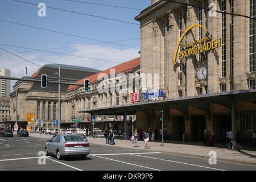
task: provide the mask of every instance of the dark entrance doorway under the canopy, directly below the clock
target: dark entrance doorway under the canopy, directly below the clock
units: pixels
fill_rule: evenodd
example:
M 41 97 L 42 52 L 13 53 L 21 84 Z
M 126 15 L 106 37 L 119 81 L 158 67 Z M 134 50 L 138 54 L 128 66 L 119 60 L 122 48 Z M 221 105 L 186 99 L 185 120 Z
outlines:
M 203 141 L 206 119 L 204 115 L 193 116 L 192 118 L 192 141 Z

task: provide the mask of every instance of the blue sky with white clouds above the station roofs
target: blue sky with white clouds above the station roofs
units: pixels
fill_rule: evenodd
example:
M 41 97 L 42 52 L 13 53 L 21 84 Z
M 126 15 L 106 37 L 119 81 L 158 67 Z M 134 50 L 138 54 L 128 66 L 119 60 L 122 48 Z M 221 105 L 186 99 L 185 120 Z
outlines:
M 26 76 L 52 63 L 103 71 L 135 59 L 141 40 L 134 18 L 150 5 L 150 0 L 1 0 L 0 69 L 23 77 L 26 67 Z

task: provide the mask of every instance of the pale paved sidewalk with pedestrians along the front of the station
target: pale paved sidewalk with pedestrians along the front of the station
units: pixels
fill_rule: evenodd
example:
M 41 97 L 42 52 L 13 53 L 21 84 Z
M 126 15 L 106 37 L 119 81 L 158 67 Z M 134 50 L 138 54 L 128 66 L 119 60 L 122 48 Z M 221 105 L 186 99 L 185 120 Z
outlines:
M 30 137 L 38 137 L 44 139 L 51 139 L 53 135 L 44 135 L 40 133 L 30 133 Z M 88 137 L 89 143 L 93 144 L 106 144 L 106 138 L 103 135 L 100 135 L 98 138 Z M 132 148 L 135 149 L 134 143 L 130 140 L 121 140 L 118 137 L 115 138 L 115 146 Z M 148 149 L 144 149 L 144 141 L 139 140 L 136 150 L 143 151 L 157 151 L 157 152 L 167 152 L 170 154 L 180 154 L 180 155 L 189 155 L 197 156 L 200 158 L 210 158 L 212 155 L 209 155 L 210 151 L 215 151 L 217 154 L 218 160 L 228 160 L 230 162 L 240 162 L 256 165 L 256 150 L 251 146 L 242 146 L 243 150 L 241 151 L 232 151 L 227 150 L 225 147 L 222 147 L 221 143 L 216 143 L 216 147 L 207 147 L 203 146 L 202 142 L 182 142 L 182 141 L 164 141 L 162 146 L 162 140 L 150 141 L 148 142 Z M 246 150 L 247 148 L 247 150 Z

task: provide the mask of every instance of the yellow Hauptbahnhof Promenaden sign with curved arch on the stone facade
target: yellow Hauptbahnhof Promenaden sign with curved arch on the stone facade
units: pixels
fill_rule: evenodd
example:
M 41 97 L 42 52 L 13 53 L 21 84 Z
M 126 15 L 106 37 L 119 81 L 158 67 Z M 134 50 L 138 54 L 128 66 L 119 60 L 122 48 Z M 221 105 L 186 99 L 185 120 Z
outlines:
M 189 27 L 184 34 L 181 36 L 179 43 L 177 44 L 175 55 L 174 55 L 174 63 L 176 61 L 177 53 L 180 47 L 180 43 L 184 36 L 187 34 L 189 30 L 191 30 L 194 27 L 203 27 L 208 33 L 209 31 L 204 26 L 201 26 L 200 24 L 194 24 L 193 26 Z M 211 42 L 209 42 L 212 40 Z M 199 44 L 199 45 L 198 45 Z M 184 57 L 189 57 L 191 55 L 196 55 L 197 53 L 201 53 L 204 51 L 209 51 L 210 49 L 215 49 L 221 46 L 221 39 L 212 39 L 212 35 L 209 35 L 207 38 L 203 38 L 200 40 L 195 40 L 192 43 L 185 44 L 185 50 L 180 51 L 178 53 L 179 59 Z

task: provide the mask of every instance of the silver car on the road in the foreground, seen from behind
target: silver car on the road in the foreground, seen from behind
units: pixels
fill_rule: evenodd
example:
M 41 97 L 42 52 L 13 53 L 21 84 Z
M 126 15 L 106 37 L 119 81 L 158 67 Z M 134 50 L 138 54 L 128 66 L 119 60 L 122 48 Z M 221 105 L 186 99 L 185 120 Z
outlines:
M 57 159 L 74 155 L 80 155 L 82 159 L 85 159 L 90 153 L 90 146 L 80 135 L 60 134 L 47 140 L 44 151 L 46 155 L 56 155 Z

